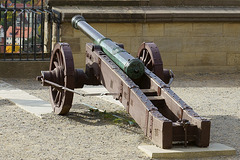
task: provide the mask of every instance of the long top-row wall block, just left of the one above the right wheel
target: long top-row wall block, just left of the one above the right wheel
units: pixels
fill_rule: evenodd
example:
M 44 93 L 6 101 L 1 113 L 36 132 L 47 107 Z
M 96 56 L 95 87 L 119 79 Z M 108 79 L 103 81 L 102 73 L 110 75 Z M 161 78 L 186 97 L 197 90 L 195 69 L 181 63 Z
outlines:
M 113 36 L 142 36 L 142 24 L 140 23 L 108 23 L 107 24 L 107 36 L 111 38 Z

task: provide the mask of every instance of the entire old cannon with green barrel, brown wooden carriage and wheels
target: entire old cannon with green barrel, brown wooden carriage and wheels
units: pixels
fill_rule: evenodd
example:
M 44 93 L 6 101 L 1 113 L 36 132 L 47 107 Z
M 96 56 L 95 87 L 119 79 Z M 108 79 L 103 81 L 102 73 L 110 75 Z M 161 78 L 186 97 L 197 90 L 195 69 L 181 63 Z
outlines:
M 124 50 L 123 44 L 105 38 L 82 16 L 74 16 L 72 25 L 93 43 L 86 44 L 85 71 L 74 68 L 69 44 L 57 43 L 49 71 L 41 71 L 37 77 L 43 86 L 50 88 L 54 113 L 69 112 L 75 88 L 102 84 L 157 146 L 164 149 L 176 143 L 209 146 L 211 122 L 170 89 L 173 72 L 163 69 L 154 43 L 142 43 L 134 58 Z

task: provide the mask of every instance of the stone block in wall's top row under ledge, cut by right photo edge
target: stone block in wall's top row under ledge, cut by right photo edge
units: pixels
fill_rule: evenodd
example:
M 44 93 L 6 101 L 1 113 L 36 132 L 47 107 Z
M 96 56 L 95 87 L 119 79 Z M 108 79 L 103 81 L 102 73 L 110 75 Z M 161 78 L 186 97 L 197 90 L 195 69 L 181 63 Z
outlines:
M 223 35 L 224 37 L 238 37 L 240 38 L 240 23 L 224 23 Z

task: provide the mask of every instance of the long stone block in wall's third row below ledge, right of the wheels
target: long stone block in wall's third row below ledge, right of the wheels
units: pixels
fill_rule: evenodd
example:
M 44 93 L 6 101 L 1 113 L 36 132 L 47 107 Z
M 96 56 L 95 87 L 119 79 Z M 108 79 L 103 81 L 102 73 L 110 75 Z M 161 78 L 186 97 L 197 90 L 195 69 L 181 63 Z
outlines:
M 178 66 L 226 66 L 225 52 L 181 53 L 177 55 Z

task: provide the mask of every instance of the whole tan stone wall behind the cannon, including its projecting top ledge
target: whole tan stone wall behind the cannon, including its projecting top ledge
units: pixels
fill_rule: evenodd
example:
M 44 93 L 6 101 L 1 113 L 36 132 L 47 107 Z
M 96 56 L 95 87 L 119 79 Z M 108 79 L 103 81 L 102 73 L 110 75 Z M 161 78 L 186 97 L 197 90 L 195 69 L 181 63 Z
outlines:
M 81 14 L 105 37 L 123 43 L 133 56 L 142 42 L 156 43 L 165 68 L 173 71 L 240 70 L 240 1 L 113 1 L 123 2 L 122 6 L 106 6 L 104 0 L 72 0 L 68 6 L 53 7 L 62 15 L 60 41 L 70 44 L 76 68 L 85 67 L 85 44 L 92 43 L 70 24 L 71 17 Z

